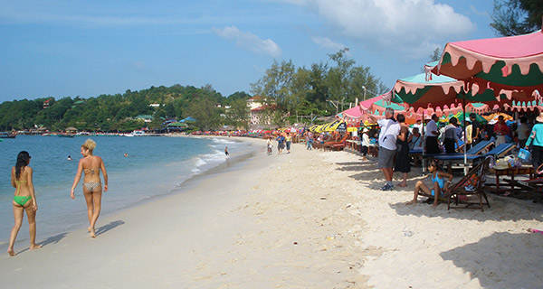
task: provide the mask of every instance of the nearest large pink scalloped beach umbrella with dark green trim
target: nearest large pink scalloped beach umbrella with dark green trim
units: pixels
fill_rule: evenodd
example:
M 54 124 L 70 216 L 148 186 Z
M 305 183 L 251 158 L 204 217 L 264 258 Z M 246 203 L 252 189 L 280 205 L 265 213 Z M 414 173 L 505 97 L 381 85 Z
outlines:
M 533 100 L 543 91 L 543 33 L 449 42 L 433 73 L 459 79 L 477 94 L 492 89 L 500 100 Z M 529 99 L 531 98 L 531 99 Z

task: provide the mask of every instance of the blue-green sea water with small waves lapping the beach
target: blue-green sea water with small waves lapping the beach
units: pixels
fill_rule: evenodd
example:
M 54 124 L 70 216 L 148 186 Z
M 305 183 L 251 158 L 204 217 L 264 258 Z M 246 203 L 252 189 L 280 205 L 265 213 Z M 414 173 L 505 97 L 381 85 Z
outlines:
M 82 193 L 83 178 L 70 191 L 81 144 L 88 138 L 17 135 L 0 142 L 0 247 L 6 247 L 14 225 L 11 168 L 20 151 L 31 156 L 33 184 L 38 200 L 37 241 L 71 228 L 87 228 L 87 207 Z M 102 194 L 101 214 L 122 210 L 159 195 L 179 191 L 189 178 L 206 172 L 227 160 L 229 153 L 249 150 L 249 144 L 230 138 L 195 138 L 165 136 L 91 136 L 96 142 L 95 155 L 100 155 L 109 176 L 109 191 Z M 125 156 L 128 154 L 128 156 Z M 71 161 L 68 160 L 71 156 Z M 100 223 L 100 219 L 99 219 Z M 28 240 L 28 225 L 17 241 Z M 100 227 L 100 224 L 97 225 Z

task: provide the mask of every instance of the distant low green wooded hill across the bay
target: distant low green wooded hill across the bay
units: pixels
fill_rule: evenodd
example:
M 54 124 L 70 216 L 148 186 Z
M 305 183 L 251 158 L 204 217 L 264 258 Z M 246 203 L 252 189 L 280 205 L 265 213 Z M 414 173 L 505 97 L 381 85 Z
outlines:
M 176 84 L 150 87 L 139 91 L 127 90 L 123 94 L 100 95 L 95 98 L 36 98 L 5 101 L 0 104 L 0 129 L 24 130 L 39 126 L 52 131 L 74 126 L 89 131 L 131 131 L 141 126 L 161 126 L 166 118 L 191 117 L 189 107 L 205 99 L 220 107 L 229 106 L 236 99 L 251 96 L 236 92 L 228 98 L 216 92 L 210 85 L 197 89 Z M 152 105 L 152 106 L 151 106 Z M 150 115 L 153 123 L 135 119 L 138 115 Z

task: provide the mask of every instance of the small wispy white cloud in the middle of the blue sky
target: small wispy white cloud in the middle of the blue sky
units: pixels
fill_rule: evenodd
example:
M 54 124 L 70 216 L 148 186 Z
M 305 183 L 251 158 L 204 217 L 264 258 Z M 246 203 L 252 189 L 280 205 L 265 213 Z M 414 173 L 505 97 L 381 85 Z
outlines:
M 271 39 L 262 40 L 258 36 L 239 30 L 235 26 L 226 26 L 223 29 L 214 28 L 213 32 L 220 37 L 235 42 L 238 47 L 248 51 L 264 53 L 278 58 L 281 48 Z

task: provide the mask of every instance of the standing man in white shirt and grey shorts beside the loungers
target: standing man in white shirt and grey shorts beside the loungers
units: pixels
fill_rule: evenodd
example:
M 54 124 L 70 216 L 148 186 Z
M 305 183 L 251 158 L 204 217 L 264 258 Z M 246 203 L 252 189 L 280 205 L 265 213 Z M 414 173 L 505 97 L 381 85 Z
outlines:
M 392 191 L 394 190 L 392 175 L 394 173 L 395 142 L 400 133 L 400 125 L 394 118 L 394 109 L 386 107 L 385 118 L 377 120 L 377 125 L 381 127 L 381 131 L 379 132 L 379 155 L 377 166 L 383 171 L 386 179 L 386 184 L 381 190 Z

